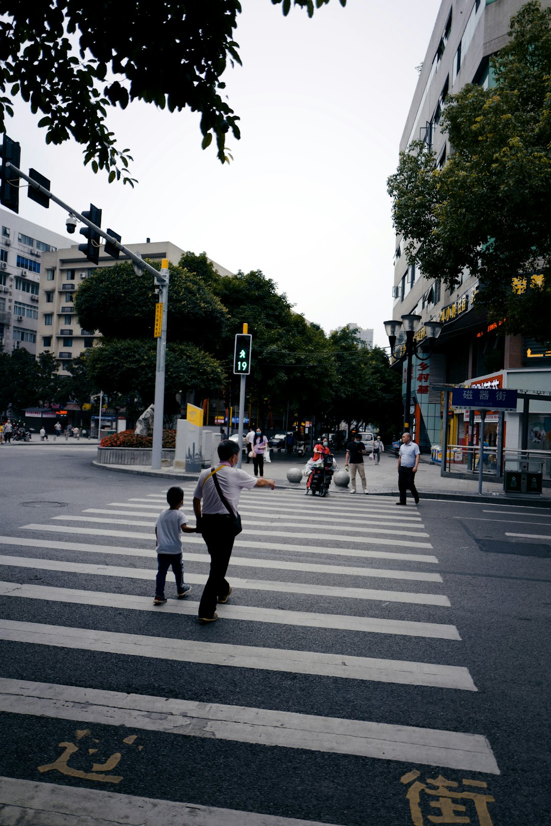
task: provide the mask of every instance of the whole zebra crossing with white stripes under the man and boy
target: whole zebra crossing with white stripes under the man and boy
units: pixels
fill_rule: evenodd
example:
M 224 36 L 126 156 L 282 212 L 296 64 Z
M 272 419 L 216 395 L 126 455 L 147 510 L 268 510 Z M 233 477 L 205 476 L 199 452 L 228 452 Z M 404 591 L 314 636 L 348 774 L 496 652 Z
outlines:
M 190 596 L 169 575 L 154 606 L 165 489 L 126 492 L 0 536 L 1 824 L 494 826 L 500 767 L 423 503 L 244 493 L 233 594 L 202 626 L 202 538 L 183 538 Z M 424 820 L 420 777 L 487 819 Z

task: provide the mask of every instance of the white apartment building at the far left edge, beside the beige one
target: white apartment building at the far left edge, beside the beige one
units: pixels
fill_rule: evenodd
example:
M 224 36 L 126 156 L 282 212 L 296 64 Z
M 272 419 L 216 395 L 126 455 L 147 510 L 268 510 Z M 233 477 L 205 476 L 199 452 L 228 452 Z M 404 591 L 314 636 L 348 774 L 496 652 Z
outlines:
M 0 351 L 36 354 L 43 256 L 67 244 L 64 235 L 0 209 Z

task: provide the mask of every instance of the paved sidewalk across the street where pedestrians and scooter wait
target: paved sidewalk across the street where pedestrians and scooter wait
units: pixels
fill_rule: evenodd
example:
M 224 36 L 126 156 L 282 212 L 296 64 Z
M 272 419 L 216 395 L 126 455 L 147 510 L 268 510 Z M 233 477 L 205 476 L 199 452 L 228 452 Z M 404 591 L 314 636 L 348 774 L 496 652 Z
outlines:
M 340 470 L 344 469 L 344 453 L 336 456 L 336 461 Z M 301 482 L 293 483 L 287 480 L 289 468 L 302 468 L 306 463 L 305 457 L 293 455 L 287 456 L 285 453 L 273 452 L 272 462 L 264 465 L 264 476 L 275 479 L 278 487 L 287 489 L 305 488 L 305 479 Z M 135 473 L 141 476 L 159 477 L 161 479 L 172 479 L 182 482 L 194 482 L 198 478 L 198 473 L 186 473 L 181 469 L 162 468 L 161 470 L 151 470 L 150 467 L 128 465 L 104 465 L 97 461 L 93 462 L 96 468 L 102 470 L 112 470 L 122 473 Z M 243 469 L 253 475 L 253 463 L 243 461 Z M 398 496 L 397 483 L 397 458 L 392 453 L 383 453 L 379 465 L 375 465 L 371 459 L 366 458 L 365 476 L 368 492 L 377 496 Z M 505 494 L 501 483 L 482 481 L 482 496 L 478 494 L 478 477 L 465 477 L 464 479 L 441 477 L 440 466 L 430 463 L 430 457 L 421 457 L 419 470 L 416 474 L 416 487 L 419 491 L 421 501 L 423 499 L 462 499 L 464 501 L 496 502 L 503 501 L 516 505 L 530 505 L 533 507 L 551 507 L 551 488 L 545 487 L 542 496 L 521 496 L 520 494 Z M 331 485 L 331 496 L 349 495 L 349 487 L 338 487 Z M 306 501 L 306 500 L 305 500 Z

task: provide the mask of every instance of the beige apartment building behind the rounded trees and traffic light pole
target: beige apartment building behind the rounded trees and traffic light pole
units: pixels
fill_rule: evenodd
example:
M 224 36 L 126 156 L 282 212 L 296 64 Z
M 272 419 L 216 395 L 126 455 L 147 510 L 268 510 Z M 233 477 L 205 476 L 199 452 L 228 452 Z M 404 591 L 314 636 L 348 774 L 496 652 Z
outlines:
M 169 259 L 177 264 L 184 250 L 169 241 L 156 241 L 145 244 L 125 244 L 132 252 L 140 253 L 143 258 L 153 261 Z M 112 267 L 115 263 L 128 260 L 121 253 L 118 259 L 100 252 L 99 267 Z M 221 275 L 231 275 L 220 264 L 211 262 Z M 78 244 L 63 249 L 53 249 L 42 259 L 43 275 L 40 282 L 38 301 L 38 330 L 36 352 L 50 350 L 55 355 L 59 371 L 66 372 L 74 358 L 84 349 L 92 347 L 100 334 L 96 330 L 83 330 L 74 314 L 74 296 L 83 278 L 88 278 L 95 267 L 83 253 L 78 251 Z

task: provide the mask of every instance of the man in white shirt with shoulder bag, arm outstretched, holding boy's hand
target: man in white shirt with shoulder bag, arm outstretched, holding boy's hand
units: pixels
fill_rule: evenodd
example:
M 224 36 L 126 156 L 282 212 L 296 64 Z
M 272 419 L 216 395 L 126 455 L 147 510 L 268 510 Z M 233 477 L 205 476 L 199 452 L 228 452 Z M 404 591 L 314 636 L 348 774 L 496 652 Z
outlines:
M 218 445 L 220 459 L 216 468 L 207 468 L 201 472 L 197 486 L 193 491 L 193 511 L 197 519 L 197 531 L 207 544 L 211 557 L 211 570 L 207 579 L 201 602 L 199 619 L 202 623 L 218 619 L 215 612 L 216 602 L 221 604 L 231 596 L 230 583 L 226 580 L 226 571 L 235 540 L 235 517 L 241 491 L 251 487 L 275 487 L 273 479 L 256 479 L 245 470 L 235 468 L 239 458 L 240 445 L 230 439 L 224 439 Z M 220 486 L 231 513 L 216 489 L 214 476 Z M 201 504 L 202 503 L 202 504 Z

